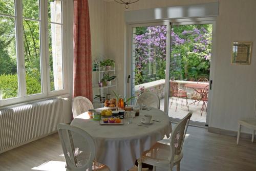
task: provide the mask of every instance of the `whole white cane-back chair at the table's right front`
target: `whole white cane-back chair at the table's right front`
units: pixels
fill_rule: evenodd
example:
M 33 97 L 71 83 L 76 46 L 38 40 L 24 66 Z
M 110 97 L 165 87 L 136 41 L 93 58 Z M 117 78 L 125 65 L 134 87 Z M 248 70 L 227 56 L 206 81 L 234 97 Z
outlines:
M 153 170 L 156 170 L 156 167 L 162 167 L 172 171 L 174 165 L 177 165 L 177 171 L 180 170 L 180 161 L 183 157 L 182 145 L 191 115 L 192 112 L 189 112 L 177 123 L 170 136 L 170 145 L 157 142 L 141 155 L 138 159 L 138 171 L 142 170 L 142 163 L 153 165 Z

